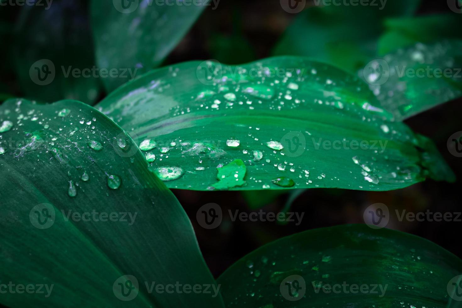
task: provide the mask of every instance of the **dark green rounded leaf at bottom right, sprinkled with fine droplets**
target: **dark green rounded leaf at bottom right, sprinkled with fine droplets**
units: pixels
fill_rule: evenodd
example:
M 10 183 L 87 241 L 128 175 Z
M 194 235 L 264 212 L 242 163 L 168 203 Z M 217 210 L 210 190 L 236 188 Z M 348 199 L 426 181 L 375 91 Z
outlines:
M 310 308 L 327 303 L 444 308 L 449 283 L 461 272 L 461 259 L 423 238 L 344 225 L 271 242 L 237 261 L 218 282 L 229 308 Z

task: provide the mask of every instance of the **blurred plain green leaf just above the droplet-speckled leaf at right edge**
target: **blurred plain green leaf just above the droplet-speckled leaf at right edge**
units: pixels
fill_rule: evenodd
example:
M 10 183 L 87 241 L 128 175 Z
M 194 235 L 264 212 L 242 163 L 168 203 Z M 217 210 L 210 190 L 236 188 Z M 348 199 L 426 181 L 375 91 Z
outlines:
M 462 18 L 454 13 L 390 18 L 385 20 L 387 31 L 378 42 L 378 54 L 385 55 L 415 43 L 431 43 L 443 39 L 461 38 Z

